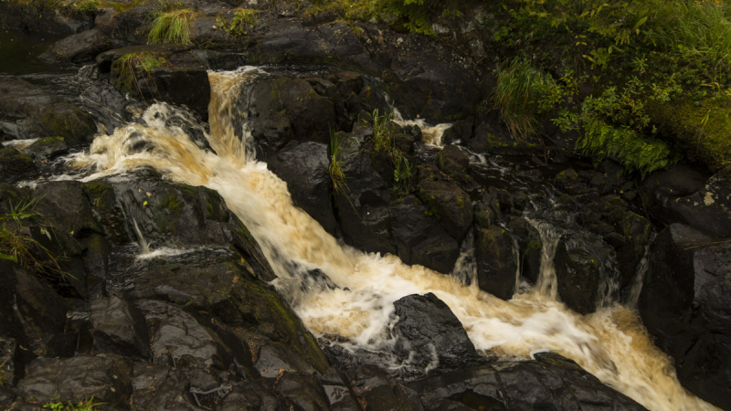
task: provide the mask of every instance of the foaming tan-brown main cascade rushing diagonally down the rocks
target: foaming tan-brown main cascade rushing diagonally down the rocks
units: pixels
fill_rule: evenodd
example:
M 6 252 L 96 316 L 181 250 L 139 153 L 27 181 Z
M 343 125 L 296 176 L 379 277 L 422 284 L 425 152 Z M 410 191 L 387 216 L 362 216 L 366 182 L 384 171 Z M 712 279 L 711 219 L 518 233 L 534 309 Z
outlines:
M 459 318 L 479 351 L 516 359 L 553 351 L 648 408 L 714 409 L 685 392 L 673 365 L 652 344 L 635 313 L 613 305 L 580 316 L 556 301 L 550 249 L 539 286 L 504 301 L 479 290 L 476 281 L 465 285 L 453 276 L 407 266 L 392 255 L 366 254 L 339 244 L 292 205 L 287 184 L 265 163 L 252 159 L 246 137 L 237 137 L 236 128 L 246 125 L 229 117 L 232 101 L 238 98 L 233 86 L 246 83 L 255 72 L 249 68 L 209 74 L 214 97 L 207 140 L 216 153 L 202 149 L 182 128 L 165 126 L 166 118 L 180 113 L 154 104 L 143 123 L 98 136 L 90 153 L 78 154 L 72 162 L 95 168 L 86 180 L 151 166 L 172 180 L 217 190 L 259 241 L 279 276 L 274 285 L 320 338 L 388 350 L 393 343 L 388 332 L 394 321 L 393 302 L 432 292 Z M 246 136 L 246 130 L 242 132 Z M 135 139 L 145 143 L 144 150 L 132 143 Z M 546 238 L 544 244 L 555 241 Z M 322 270 L 333 287 L 313 282 L 308 274 L 313 269 Z M 461 261 L 461 269 L 464 279 L 473 278 L 469 256 Z

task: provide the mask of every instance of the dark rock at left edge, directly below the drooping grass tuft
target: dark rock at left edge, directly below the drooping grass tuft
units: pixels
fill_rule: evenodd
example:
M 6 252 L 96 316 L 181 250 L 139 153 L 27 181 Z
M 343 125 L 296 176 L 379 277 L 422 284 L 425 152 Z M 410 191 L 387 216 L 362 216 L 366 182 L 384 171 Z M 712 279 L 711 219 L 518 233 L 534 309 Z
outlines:
M 63 332 L 67 303 L 37 276 L 16 263 L 0 259 L 0 336 L 24 346 Z

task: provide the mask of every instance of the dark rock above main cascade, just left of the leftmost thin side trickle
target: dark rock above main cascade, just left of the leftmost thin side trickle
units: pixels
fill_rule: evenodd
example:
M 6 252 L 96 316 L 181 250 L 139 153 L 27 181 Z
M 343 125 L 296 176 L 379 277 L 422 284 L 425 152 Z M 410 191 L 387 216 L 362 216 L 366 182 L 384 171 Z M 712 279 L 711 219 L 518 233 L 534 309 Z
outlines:
M 437 217 L 414 195 L 391 206 L 392 234 L 398 257 L 448 274 L 460 255 L 460 245 L 442 228 Z

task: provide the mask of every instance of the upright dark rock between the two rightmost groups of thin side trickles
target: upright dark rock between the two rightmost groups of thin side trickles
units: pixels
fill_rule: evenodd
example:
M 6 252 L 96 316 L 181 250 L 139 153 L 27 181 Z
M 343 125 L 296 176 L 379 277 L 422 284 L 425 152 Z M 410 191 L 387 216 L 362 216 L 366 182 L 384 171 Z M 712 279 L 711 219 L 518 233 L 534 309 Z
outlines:
M 593 312 L 602 280 L 599 257 L 573 242 L 561 240 L 556 247 L 554 264 L 561 300 L 578 313 Z

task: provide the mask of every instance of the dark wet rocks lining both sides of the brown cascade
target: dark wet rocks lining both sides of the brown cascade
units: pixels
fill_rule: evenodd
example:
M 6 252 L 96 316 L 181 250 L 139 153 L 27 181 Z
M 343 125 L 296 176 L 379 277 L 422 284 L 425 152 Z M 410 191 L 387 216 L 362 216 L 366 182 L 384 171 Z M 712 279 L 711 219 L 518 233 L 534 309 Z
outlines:
M 651 248 L 642 319 L 673 356 L 683 385 L 731 408 L 725 178 L 676 165 L 641 183 L 609 160 L 596 168 L 546 164 L 567 161 L 571 136 L 555 136 L 549 148 L 516 141 L 496 111 L 477 110 L 494 82 L 481 68 L 489 49 L 482 40 L 470 39 L 470 54 L 456 39 L 334 16 L 300 18 L 292 5 L 265 2 L 245 5 L 257 19 L 240 37 L 218 19 L 233 22 L 235 5 L 185 1 L 199 12 L 193 44 L 147 45 L 158 2 L 93 14 L 10 3 L 0 2 L 3 26 L 64 36 L 47 58 L 96 59 L 97 68 L 85 68 L 94 85 L 80 100 L 49 92 L 53 82 L 0 76 L 0 142 L 39 139 L 0 148 L 0 209 L 43 197 L 38 209 L 48 221 L 26 222 L 24 233 L 68 258 L 61 279 L 0 259 L 0 282 L 11 285 L 0 290 L 0 364 L 7 372 L 0 407 L 38 409 L 56 397 L 94 395 L 122 409 L 641 409 L 554 354 L 518 363 L 475 357 L 461 324 L 433 294 L 396 306 L 397 361 L 420 374 L 388 374 L 374 366 L 384 357 L 337 344 L 326 347 L 326 357 L 322 342 L 266 284 L 275 276 L 248 229 L 205 187 L 149 170 L 32 190 L 5 186 L 69 171 L 54 160 L 86 148 L 97 124 L 111 133 L 154 100 L 206 120 L 207 69 L 305 63 L 318 66 L 272 69 L 241 90 L 233 115 L 250 128 L 235 132 L 241 139 L 251 133 L 258 158 L 328 232 L 443 274 L 473 241 L 460 269 L 473 265 L 474 277 L 470 271 L 463 280 L 508 300 L 539 278 L 553 239 L 535 220 L 546 221 L 563 238 L 555 258 L 560 299 L 590 313 L 604 296 L 603 281 L 617 289 L 605 293 L 609 300 L 630 293 L 653 230 L 670 225 Z M 115 61 L 145 51 L 166 62 L 137 72 L 142 80 L 125 89 Z M 403 160 L 379 152 L 372 115 L 390 111 L 387 100 L 407 118 L 454 121 L 442 140 L 460 146 L 436 152 L 424 146 L 418 126 L 389 123 Z M 90 110 L 89 101 L 109 112 Z M 196 131 L 200 142 L 203 132 Z M 347 185 L 340 191 L 328 173 L 338 140 L 335 157 Z M 154 150 L 144 139 L 129 148 Z M 404 160 L 414 167 L 406 177 Z M 569 245 L 571 237 L 590 241 Z

